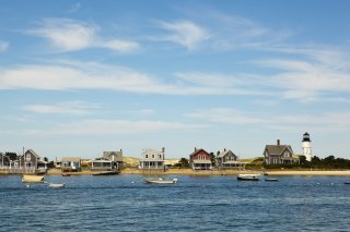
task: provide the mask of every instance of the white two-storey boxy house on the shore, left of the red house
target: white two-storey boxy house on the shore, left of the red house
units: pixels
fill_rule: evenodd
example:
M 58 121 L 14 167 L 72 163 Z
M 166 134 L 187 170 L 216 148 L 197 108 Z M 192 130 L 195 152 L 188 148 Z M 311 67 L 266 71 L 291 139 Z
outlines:
M 164 170 L 165 148 L 161 151 L 154 149 L 144 149 L 141 154 L 139 169 Z

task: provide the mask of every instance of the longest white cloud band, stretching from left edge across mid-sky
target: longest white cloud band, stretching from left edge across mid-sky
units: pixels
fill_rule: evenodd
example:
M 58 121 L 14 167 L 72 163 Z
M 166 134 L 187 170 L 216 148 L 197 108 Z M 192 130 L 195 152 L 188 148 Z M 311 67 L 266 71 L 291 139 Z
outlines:
M 117 91 L 149 93 L 162 95 L 261 95 L 242 90 L 243 84 L 235 78 L 215 75 L 177 73 L 171 81 L 132 69 L 105 65 L 96 62 L 56 61 L 55 65 L 23 65 L 0 70 L 0 89 L 109 89 Z M 225 84 L 228 84 L 225 86 Z

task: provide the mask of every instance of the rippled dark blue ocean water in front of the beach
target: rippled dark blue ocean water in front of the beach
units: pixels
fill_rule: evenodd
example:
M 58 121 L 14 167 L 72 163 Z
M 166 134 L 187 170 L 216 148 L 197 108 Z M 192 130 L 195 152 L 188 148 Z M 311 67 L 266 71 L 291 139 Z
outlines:
M 46 176 L 26 187 L 0 175 L 0 231 L 350 231 L 350 181 L 345 176 Z

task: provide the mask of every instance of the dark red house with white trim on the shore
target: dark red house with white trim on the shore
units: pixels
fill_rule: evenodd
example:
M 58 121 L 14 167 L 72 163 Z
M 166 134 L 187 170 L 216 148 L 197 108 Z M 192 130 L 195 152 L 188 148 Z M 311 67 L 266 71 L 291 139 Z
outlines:
M 197 149 L 189 155 L 189 167 L 192 170 L 212 170 L 210 154 L 205 149 Z

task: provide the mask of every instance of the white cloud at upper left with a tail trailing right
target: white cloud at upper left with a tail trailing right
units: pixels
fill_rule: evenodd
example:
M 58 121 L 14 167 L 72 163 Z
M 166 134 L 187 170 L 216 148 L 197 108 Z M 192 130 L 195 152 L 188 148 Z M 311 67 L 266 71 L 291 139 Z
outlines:
M 86 48 L 107 48 L 115 51 L 135 51 L 139 44 L 122 39 L 104 39 L 100 27 L 70 19 L 44 19 L 39 27 L 27 33 L 46 38 L 58 51 L 75 51 Z

